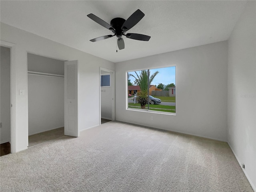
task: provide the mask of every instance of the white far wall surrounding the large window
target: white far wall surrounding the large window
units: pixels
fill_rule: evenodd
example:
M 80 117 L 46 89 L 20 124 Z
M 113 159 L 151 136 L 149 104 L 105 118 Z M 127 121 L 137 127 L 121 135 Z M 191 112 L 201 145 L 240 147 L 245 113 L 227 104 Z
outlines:
M 226 141 L 227 59 L 224 41 L 116 63 L 116 120 Z M 176 116 L 126 110 L 126 71 L 168 65 L 176 66 Z

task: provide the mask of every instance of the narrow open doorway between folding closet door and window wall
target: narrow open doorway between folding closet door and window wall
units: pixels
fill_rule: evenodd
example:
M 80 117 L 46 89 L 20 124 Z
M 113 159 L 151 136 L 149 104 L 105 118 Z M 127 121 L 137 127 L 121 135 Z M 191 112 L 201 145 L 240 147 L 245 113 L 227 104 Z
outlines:
M 115 120 L 115 72 L 100 68 L 100 124 Z

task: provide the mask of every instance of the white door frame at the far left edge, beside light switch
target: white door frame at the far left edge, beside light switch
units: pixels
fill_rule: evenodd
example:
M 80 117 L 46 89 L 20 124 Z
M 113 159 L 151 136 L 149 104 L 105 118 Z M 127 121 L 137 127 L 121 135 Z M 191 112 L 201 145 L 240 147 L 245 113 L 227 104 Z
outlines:
M 10 48 L 10 101 L 11 101 L 11 153 L 17 152 L 17 90 L 16 90 L 16 44 L 6 41 L 0 41 L 0 45 Z

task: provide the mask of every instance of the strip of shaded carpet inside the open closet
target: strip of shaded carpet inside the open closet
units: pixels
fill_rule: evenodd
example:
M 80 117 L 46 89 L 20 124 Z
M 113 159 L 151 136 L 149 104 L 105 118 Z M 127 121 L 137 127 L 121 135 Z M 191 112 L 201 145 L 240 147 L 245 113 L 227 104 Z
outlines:
M 28 136 L 28 147 L 64 136 L 64 127 Z

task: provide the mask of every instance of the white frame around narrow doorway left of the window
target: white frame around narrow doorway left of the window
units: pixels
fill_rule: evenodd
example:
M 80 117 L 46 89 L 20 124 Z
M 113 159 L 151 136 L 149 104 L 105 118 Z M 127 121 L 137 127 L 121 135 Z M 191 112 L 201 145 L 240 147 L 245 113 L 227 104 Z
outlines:
M 102 68 L 100 67 L 100 71 L 99 71 L 99 82 L 100 82 L 100 72 L 101 71 L 106 71 L 106 72 L 110 72 L 110 87 L 112 87 L 112 118 L 111 120 L 114 121 L 116 120 L 116 72 L 114 70 L 111 69 L 107 69 L 107 68 Z M 101 87 L 100 87 L 100 83 L 99 83 L 99 92 L 100 92 L 100 118 L 99 118 L 99 124 L 101 125 Z

